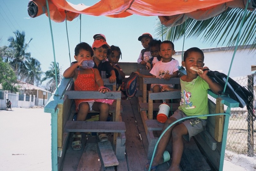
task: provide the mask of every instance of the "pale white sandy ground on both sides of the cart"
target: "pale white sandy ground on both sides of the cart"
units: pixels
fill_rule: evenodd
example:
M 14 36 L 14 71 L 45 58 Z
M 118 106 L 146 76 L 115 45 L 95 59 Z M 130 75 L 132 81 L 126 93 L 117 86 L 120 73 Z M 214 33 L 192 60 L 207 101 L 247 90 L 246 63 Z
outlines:
M 51 115 L 43 108 L 0 110 L 0 170 L 51 170 Z M 256 159 L 226 151 L 223 171 L 256 170 Z

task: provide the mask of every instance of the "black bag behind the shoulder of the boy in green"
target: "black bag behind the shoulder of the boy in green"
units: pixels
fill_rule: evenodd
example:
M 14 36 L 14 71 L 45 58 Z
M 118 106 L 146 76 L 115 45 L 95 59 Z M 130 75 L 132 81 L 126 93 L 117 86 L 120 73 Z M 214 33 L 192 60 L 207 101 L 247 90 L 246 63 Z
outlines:
M 211 77 L 215 82 L 219 83 L 224 89 L 227 75 L 218 71 L 208 71 L 207 75 Z M 252 92 L 239 85 L 230 77 L 228 78 L 228 84 L 226 86 L 225 93 L 227 93 L 230 98 L 239 102 L 240 108 L 244 108 L 245 105 L 249 105 L 253 99 Z

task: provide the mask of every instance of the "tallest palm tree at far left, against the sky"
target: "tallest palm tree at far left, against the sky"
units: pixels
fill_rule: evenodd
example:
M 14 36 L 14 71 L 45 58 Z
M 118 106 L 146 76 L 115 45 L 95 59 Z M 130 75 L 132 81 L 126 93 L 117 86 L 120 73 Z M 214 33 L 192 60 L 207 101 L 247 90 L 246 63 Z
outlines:
M 14 71 L 16 72 L 18 79 L 20 78 L 21 73 L 26 73 L 28 71 L 26 67 L 26 61 L 30 58 L 30 53 L 27 53 L 26 50 L 28 48 L 28 43 L 32 40 L 32 38 L 25 43 L 25 32 L 20 33 L 20 31 L 13 32 L 15 34 L 14 37 L 9 37 L 9 48 L 13 50 L 13 59 L 10 64 Z

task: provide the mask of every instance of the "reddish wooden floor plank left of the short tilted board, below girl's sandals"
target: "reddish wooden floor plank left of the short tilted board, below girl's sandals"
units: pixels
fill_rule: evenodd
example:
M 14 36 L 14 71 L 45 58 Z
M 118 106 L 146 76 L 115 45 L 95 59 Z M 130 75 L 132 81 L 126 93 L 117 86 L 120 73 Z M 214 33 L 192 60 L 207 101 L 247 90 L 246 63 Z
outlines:
M 100 171 L 100 167 L 98 145 L 96 143 L 87 143 L 76 171 Z

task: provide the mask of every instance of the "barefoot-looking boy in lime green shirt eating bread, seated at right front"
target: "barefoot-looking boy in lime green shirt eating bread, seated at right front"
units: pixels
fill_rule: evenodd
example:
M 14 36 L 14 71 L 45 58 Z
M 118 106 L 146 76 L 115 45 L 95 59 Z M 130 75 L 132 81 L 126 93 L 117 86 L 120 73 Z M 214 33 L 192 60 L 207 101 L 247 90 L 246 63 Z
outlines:
M 209 114 L 208 89 L 211 89 L 214 93 L 222 91 L 222 87 L 207 76 L 208 67 L 204 67 L 204 53 L 199 48 L 190 48 L 184 53 L 182 66 L 186 67 L 187 75 L 180 78 L 180 107 L 164 123 L 162 132 L 178 119 L 193 115 Z M 206 71 L 203 73 L 199 70 L 194 71 L 191 69 L 193 67 L 203 71 L 206 69 Z M 170 90 L 168 86 L 162 87 L 162 91 Z M 180 171 L 180 160 L 183 152 L 182 137 L 187 136 L 189 140 L 192 136 L 203 131 L 206 119 L 207 117 L 189 118 L 172 125 L 159 141 L 151 170 L 156 170 L 158 165 L 163 163 L 165 148 L 172 137 L 172 164 L 168 170 Z M 149 164 L 145 166 L 145 170 L 148 170 L 148 167 Z

